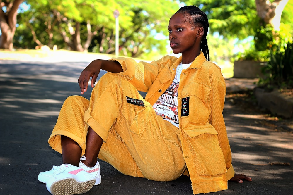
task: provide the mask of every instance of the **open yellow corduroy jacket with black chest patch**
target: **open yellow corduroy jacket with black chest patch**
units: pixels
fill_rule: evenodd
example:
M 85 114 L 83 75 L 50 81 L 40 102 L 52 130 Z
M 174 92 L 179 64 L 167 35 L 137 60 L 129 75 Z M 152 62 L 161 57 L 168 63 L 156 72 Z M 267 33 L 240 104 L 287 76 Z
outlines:
M 122 57 L 111 60 L 121 64 L 123 72 L 118 74 L 125 75 L 139 91 L 147 92 L 145 100 L 153 105 L 173 82 L 182 56 L 164 56 L 151 63 Z M 207 61 L 202 52 L 180 75 L 180 139 L 194 194 L 225 190 L 227 180 L 234 176 L 222 115 L 225 94 L 221 69 Z

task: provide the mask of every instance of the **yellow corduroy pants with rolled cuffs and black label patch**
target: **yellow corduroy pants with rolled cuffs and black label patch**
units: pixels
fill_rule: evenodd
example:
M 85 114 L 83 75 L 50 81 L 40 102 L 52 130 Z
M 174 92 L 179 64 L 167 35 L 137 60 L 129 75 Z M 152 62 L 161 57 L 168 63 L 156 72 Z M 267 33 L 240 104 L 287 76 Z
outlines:
M 62 153 L 64 135 L 84 154 L 88 126 L 104 141 L 98 158 L 125 175 L 171 181 L 186 168 L 178 127 L 157 116 L 124 76 L 103 75 L 90 100 L 68 97 L 48 142 Z

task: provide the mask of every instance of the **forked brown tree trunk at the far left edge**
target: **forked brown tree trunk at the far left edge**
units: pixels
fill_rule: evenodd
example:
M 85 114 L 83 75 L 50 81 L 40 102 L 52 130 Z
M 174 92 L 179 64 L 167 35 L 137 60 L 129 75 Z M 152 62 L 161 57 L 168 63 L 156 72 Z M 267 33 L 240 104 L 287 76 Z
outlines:
M 19 5 L 23 0 L 14 0 L 13 2 L 1 2 L 0 1 L 0 48 L 13 49 L 13 37 L 16 30 L 16 16 Z M 3 11 L 3 7 L 6 7 L 6 12 Z

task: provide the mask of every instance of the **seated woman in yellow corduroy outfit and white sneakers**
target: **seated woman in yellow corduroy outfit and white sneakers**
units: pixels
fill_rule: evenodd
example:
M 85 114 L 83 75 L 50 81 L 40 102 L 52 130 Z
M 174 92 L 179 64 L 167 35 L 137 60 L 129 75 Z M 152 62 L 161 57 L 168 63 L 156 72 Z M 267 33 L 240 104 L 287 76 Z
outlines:
M 50 146 L 63 163 L 42 172 L 52 194 L 81 194 L 100 184 L 97 158 L 120 172 L 156 181 L 189 174 L 194 194 L 227 189 L 235 174 L 222 115 L 226 87 L 209 62 L 208 19 L 196 6 L 180 8 L 169 21 L 170 46 L 179 58 L 151 63 L 130 58 L 94 60 L 79 77 L 81 94 L 90 77 L 108 71 L 91 98 L 64 102 Z M 138 93 L 147 92 L 145 99 Z

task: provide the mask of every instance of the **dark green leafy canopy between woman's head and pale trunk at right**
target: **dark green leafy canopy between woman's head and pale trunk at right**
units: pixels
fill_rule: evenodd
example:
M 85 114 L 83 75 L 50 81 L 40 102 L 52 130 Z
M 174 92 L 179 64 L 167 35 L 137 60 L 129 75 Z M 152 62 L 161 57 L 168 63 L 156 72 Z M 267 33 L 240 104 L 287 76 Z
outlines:
M 258 25 L 255 0 L 184 0 L 198 6 L 209 18 L 211 33 L 228 39 L 245 39 L 254 35 Z

